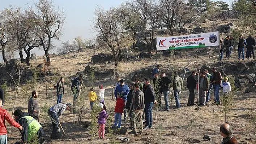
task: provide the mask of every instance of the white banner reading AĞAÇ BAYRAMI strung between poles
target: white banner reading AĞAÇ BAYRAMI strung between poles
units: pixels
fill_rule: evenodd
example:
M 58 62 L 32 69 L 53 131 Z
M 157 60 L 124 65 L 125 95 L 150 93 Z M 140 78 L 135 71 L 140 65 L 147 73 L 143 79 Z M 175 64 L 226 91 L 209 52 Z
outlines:
M 157 38 L 157 51 L 167 49 L 204 48 L 219 45 L 219 32 Z

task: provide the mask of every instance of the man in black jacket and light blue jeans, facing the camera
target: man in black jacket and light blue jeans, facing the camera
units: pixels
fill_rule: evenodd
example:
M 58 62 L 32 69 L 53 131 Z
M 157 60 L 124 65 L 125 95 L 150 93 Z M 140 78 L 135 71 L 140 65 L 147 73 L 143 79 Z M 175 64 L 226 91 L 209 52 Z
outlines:
M 162 92 L 163 92 L 163 96 L 165 99 L 165 110 L 164 111 L 169 110 L 169 92 L 170 92 L 169 85 L 170 85 L 170 83 L 171 83 L 171 80 L 168 77 L 166 77 L 165 73 L 162 73 L 160 94 L 162 95 Z

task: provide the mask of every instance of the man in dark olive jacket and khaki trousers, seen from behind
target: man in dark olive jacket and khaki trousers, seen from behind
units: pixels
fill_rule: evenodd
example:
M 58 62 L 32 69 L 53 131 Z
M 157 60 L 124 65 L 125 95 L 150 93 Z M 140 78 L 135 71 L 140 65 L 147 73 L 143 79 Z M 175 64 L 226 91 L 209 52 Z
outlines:
M 143 122 L 142 122 L 142 114 L 143 114 L 143 110 L 145 108 L 145 97 L 144 97 L 144 93 L 140 90 L 140 86 L 139 84 L 135 84 L 134 85 L 135 88 L 135 97 L 133 99 L 133 109 L 134 109 L 134 115 L 132 116 L 132 126 L 133 126 L 133 130 L 131 132 L 129 132 L 130 134 L 136 134 L 136 127 L 138 126 L 137 121 L 139 121 L 139 125 L 140 125 L 140 132 L 141 134 L 143 134 Z M 137 126 L 136 126 L 137 125 Z

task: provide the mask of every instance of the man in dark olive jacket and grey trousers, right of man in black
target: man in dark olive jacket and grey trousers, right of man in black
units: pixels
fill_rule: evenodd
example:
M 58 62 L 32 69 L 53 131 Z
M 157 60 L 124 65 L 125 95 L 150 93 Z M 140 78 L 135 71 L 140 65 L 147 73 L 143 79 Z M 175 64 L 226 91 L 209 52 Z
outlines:
M 199 106 L 205 105 L 206 93 L 208 93 L 210 80 L 203 71 L 200 71 L 199 79 Z

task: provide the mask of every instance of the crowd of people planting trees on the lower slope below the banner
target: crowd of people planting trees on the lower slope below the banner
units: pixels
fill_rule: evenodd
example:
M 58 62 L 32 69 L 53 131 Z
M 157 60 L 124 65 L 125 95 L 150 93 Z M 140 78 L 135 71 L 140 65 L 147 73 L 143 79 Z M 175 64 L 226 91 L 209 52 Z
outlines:
M 220 72 L 216 68 L 211 69 L 212 74 L 208 73 L 208 70 L 200 70 L 198 74 L 196 71 L 192 71 L 192 74 L 187 78 L 187 88 L 189 90 L 189 97 L 187 106 L 195 105 L 195 89 L 199 92 L 199 106 L 204 106 L 210 102 L 210 91 L 213 89 L 214 93 L 214 103 L 221 104 L 219 100 L 219 88 L 223 88 L 223 96 L 227 95 L 231 91 L 230 83 L 228 78 L 222 78 Z M 162 111 L 169 111 L 169 93 L 170 87 L 173 89 L 175 97 L 175 107 L 173 109 L 180 109 L 179 95 L 183 90 L 183 79 L 179 77 L 178 73 L 174 71 L 173 79 L 169 79 L 166 73 L 160 70 L 160 66 L 157 65 L 152 70 L 152 79 L 144 79 L 144 84 L 140 79 L 135 79 L 133 83 L 124 83 L 124 79 L 117 76 L 115 79 L 117 81 L 114 94 L 116 97 L 115 105 L 115 122 L 112 127 L 121 128 L 122 126 L 122 115 L 123 121 L 127 121 L 130 117 L 130 127 L 132 131 L 129 134 L 143 134 L 145 130 L 153 127 L 153 106 Z M 80 75 L 78 78 L 74 79 L 71 90 L 74 94 L 74 102 L 80 96 L 81 84 L 83 82 L 83 77 Z M 172 85 L 171 85 L 172 84 Z M 106 121 L 109 116 L 107 114 L 107 109 L 104 100 L 104 88 L 102 85 L 99 86 L 98 96 L 94 92 L 93 88 L 90 88 L 88 93 L 90 101 L 90 109 L 97 104 L 95 102 L 99 101 L 98 106 L 101 108 L 101 112 L 98 115 L 98 134 L 99 139 L 105 139 L 105 127 Z M 60 131 L 59 117 L 63 114 L 64 110 L 71 109 L 70 103 L 63 104 L 61 99 L 64 95 L 64 78 L 60 78 L 57 83 L 57 102 L 48 110 L 48 115 L 51 117 L 52 121 L 52 133 L 51 139 L 59 139 L 62 137 Z M 1 93 L 0 93 L 1 95 Z M 162 95 L 165 100 L 165 106 L 162 109 Z M 7 144 L 7 129 L 5 126 L 5 120 L 7 120 L 12 126 L 19 128 L 21 132 L 21 141 L 16 142 L 16 144 L 26 144 L 29 141 L 37 140 L 40 144 L 43 144 L 46 139 L 43 138 L 44 131 L 42 126 L 38 122 L 40 108 L 37 101 L 38 92 L 32 91 L 31 97 L 29 99 L 29 106 L 27 113 L 22 112 L 20 109 L 14 111 L 13 120 L 8 114 L 7 110 L 0 108 L 0 144 Z M 4 97 L 3 97 L 4 98 Z M 0 106 L 2 107 L 2 101 L 0 101 Z M 129 112 L 128 112 L 129 111 Z M 128 114 L 127 114 L 128 112 Z M 137 131 L 139 128 L 139 131 Z M 223 124 L 220 127 L 221 135 L 223 136 L 223 144 L 237 144 L 236 139 L 232 135 L 230 125 Z M 63 131 L 64 132 L 64 131 Z M 35 137 L 37 135 L 37 137 Z

